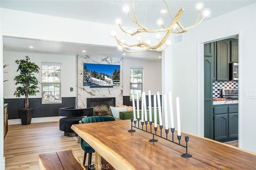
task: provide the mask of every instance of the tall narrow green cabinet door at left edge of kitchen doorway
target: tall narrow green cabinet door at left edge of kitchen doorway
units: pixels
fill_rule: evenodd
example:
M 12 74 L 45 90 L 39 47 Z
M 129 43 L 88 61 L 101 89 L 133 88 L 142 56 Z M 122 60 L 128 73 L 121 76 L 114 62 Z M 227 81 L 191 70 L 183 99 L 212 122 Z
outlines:
M 204 137 L 213 139 L 212 57 L 204 56 Z

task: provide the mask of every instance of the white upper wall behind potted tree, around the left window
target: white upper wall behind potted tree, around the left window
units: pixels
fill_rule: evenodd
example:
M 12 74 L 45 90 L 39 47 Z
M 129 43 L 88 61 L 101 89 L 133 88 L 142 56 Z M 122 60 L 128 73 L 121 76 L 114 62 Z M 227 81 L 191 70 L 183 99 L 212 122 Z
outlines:
M 39 82 L 42 82 L 42 62 L 54 62 L 61 63 L 61 96 L 62 97 L 76 97 L 76 56 L 68 55 L 49 55 L 49 54 L 37 54 L 37 53 L 20 53 L 4 51 L 3 58 L 4 63 L 9 64 L 4 71 L 4 98 L 11 99 L 16 98 L 14 92 L 18 85 L 15 85 L 14 77 L 19 73 L 16 72 L 18 65 L 15 63 L 16 60 L 25 59 L 25 56 L 30 57 L 30 61 L 37 64 L 40 68 L 38 74 L 35 74 Z M 42 98 L 42 86 L 38 90 L 39 93 L 36 96 L 30 96 L 30 98 Z M 70 87 L 74 89 L 70 92 Z M 24 96 L 22 96 L 24 98 Z

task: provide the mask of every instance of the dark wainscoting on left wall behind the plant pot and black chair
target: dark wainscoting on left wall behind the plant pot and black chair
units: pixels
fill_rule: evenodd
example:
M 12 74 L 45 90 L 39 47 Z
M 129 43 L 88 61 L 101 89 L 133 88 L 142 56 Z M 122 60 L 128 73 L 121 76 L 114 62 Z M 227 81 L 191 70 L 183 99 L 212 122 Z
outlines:
M 4 99 L 4 103 L 8 104 L 8 119 L 20 119 L 19 109 L 24 108 L 25 99 Z M 29 107 L 34 108 L 32 117 L 59 116 L 59 108 L 61 107 L 76 108 L 76 98 L 62 98 L 61 104 L 42 104 L 41 98 L 30 98 Z

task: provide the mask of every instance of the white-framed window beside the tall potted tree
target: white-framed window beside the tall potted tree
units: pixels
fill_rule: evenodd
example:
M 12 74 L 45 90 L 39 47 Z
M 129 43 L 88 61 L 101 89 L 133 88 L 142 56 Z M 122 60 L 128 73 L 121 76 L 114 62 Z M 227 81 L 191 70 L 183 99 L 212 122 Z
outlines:
M 61 63 L 42 63 L 42 104 L 61 103 Z

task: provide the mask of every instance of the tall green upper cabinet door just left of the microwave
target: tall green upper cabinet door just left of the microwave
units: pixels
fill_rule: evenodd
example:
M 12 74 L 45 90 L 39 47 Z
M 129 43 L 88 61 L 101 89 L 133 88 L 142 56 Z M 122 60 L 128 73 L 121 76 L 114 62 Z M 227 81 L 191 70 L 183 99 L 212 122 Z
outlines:
M 216 46 L 216 80 L 229 81 L 230 40 L 217 41 Z

